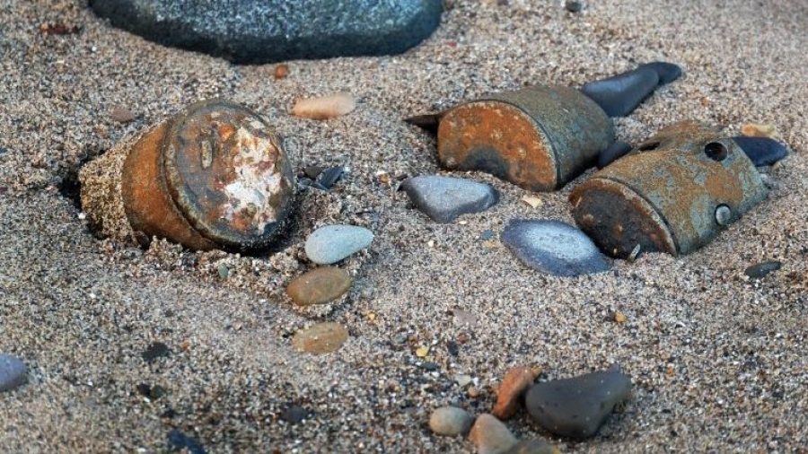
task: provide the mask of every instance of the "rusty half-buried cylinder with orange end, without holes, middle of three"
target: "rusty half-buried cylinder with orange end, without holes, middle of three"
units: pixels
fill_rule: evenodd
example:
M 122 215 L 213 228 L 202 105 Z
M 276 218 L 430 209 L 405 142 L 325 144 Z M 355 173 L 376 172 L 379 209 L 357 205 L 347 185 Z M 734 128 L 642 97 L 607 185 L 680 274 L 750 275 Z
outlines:
M 450 170 L 482 170 L 522 188 L 560 188 L 614 141 L 611 119 L 575 89 L 534 86 L 447 111 L 438 156 Z

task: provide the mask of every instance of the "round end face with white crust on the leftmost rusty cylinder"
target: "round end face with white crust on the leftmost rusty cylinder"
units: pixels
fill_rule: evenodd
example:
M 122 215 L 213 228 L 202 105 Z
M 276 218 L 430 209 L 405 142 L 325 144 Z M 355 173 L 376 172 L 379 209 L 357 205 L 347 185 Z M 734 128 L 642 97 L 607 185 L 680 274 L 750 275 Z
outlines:
M 273 127 L 250 109 L 206 100 L 171 121 L 163 146 L 166 186 L 197 231 L 224 246 L 268 244 L 294 188 Z

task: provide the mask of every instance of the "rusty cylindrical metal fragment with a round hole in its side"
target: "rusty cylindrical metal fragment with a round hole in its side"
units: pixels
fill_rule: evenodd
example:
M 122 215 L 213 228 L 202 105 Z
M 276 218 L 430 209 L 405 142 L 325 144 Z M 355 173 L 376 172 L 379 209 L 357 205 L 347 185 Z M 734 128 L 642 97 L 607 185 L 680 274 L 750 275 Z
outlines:
M 575 223 L 614 257 L 688 254 L 766 198 L 741 148 L 696 122 L 666 127 L 569 196 Z

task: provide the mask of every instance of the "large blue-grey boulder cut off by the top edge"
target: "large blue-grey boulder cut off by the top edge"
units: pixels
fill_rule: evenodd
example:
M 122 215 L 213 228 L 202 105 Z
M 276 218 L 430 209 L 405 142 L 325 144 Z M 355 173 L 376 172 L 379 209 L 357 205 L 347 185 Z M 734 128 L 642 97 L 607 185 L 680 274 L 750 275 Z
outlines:
M 441 22 L 442 0 L 90 0 L 112 25 L 233 63 L 401 53 Z

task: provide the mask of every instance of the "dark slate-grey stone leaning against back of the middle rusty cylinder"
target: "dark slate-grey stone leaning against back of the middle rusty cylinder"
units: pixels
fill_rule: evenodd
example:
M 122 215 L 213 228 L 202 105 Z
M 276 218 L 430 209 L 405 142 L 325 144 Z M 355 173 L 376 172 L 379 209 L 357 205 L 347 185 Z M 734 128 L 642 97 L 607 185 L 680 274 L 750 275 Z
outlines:
M 626 117 L 654 92 L 659 74 L 648 66 L 597 82 L 586 83 L 581 92 L 595 101 L 610 117 Z

